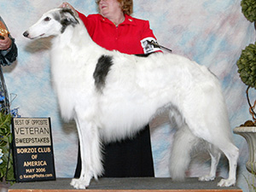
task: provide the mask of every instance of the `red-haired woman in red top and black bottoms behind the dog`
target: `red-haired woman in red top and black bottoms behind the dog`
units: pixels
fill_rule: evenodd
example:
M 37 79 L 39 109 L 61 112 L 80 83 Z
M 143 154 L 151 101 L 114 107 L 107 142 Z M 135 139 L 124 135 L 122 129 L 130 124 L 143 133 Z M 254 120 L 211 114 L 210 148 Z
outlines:
M 148 41 L 156 43 L 148 20 L 131 17 L 132 0 L 96 0 L 96 3 L 100 14 L 85 16 L 79 11 L 76 12 L 96 44 L 125 54 L 160 51 L 148 44 Z M 61 8 L 65 7 L 75 10 L 69 3 L 62 3 Z M 103 149 L 103 177 L 154 177 L 148 125 L 136 137 L 105 144 Z M 80 172 L 79 156 L 75 177 L 79 177 Z

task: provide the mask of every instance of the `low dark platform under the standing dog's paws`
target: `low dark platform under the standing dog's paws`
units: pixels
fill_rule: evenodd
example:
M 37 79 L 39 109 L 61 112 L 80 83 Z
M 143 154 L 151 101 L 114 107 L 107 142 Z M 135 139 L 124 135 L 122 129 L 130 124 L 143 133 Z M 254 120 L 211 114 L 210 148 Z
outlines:
M 199 182 L 197 178 L 186 178 L 184 182 L 174 183 L 171 178 L 126 177 L 100 178 L 92 180 L 88 189 L 73 189 L 70 178 L 58 178 L 56 181 L 15 183 L 9 192 L 242 192 L 237 187 L 221 188 L 217 186 L 221 178 L 212 182 Z

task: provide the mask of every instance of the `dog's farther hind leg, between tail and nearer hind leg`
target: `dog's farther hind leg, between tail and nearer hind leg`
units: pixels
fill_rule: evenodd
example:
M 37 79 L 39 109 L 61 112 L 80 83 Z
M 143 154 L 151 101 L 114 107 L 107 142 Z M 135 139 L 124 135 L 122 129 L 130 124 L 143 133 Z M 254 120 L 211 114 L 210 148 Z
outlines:
M 208 143 L 208 152 L 211 156 L 211 169 L 208 175 L 199 177 L 199 181 L 212 181 L 216 177 L 216 172 L 217 172 L 217 166 L 218 166 L 218 161 L 221 156 L 220 151 L 218 148 L 215 148 L 212 144 Z

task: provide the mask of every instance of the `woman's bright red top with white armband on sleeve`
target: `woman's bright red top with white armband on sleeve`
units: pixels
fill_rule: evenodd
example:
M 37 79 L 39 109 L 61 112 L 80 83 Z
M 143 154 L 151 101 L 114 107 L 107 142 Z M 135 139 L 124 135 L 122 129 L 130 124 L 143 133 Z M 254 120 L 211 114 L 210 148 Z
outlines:
M 92 40 L 105 49 L 116 49 L 126 54 L 146 54 L 160 50 L 147 44 L 147 40 L 156 42 L 148 20 L 125 15 L 125 21 L 115 26 L 111 20 L 99 14 L 86 17 L 79 13 L 79 18 L 83 20 Z

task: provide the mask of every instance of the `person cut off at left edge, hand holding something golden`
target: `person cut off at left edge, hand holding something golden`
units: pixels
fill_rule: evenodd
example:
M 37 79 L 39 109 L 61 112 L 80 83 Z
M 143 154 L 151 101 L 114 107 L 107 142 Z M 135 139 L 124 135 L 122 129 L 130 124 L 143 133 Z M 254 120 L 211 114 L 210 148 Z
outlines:
M 9 96 L 3 78 L 2 66 L 9 66 L 16 60 L 18 50 L 15 44 L 15 39 L 8 32 L 8 28 L 0 16 L 0 96 L 3 100 L 0 101 L 0 111 L 9 113 Z

